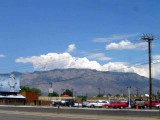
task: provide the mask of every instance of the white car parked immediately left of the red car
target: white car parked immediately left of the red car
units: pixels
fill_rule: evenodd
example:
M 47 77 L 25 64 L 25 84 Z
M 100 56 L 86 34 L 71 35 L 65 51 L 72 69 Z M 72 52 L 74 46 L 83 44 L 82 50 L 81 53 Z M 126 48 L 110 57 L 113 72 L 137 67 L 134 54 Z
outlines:
M 95 108 L 95 107 L 102 108 L 102 106 L 106 105 L 106 104 L 109 104 L 109 102 L 105 101 L 105 100 L 98 100 L 98 101 L 94 101 L 94 102 L 89 103 L 87 105 L 87 107 L 90 107 L 90 108 Z

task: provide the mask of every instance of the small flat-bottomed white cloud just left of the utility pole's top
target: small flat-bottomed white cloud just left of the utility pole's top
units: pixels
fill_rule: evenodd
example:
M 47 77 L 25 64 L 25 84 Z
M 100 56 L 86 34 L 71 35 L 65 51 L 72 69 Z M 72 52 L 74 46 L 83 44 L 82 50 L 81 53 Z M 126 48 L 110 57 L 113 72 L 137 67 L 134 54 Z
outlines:
M 119 43 L 110 43 L 106 45 L 106 50 L 133 50 L 133 49 L 146 49 L 147 43 L 132 43 L 128 40 L 122 40 Z

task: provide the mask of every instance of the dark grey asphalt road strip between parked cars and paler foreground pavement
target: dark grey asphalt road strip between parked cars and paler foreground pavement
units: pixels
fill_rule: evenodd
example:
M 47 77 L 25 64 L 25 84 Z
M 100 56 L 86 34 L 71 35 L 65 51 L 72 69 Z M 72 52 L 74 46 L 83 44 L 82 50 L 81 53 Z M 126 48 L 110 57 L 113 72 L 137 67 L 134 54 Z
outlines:
M 133 117 L 157 117 L 159 110 L 147 109 L 104 109 L 104 108 L 54 108 L 49 106 L 0 106 L 0 110 L 21 111 L 21 112 L 41 112 L 54 114 L 77 114 L 77 115 L 103 115 L 103 116 L 133 116 Z

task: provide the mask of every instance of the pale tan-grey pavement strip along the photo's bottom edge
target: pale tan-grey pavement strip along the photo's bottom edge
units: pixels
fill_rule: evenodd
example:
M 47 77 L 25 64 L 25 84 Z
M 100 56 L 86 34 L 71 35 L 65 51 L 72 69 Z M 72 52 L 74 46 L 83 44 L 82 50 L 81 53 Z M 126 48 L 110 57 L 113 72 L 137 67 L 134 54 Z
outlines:
M 159 117 L 55 114 L 0 110 L 0 120 L 158 120 Z

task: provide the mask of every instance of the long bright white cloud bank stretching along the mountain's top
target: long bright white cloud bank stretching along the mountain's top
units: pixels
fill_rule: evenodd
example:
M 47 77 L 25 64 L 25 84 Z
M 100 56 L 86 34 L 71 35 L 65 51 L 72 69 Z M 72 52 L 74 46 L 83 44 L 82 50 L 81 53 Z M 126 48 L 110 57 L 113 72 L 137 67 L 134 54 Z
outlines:
M 148 67 L 146 66 L 132 66 L 124 62 L 109 62 L 101 65 L 97 61 L 90 61 L 86 57 L 76 58 L 69 53 L 48 53 L 40 56 L 20 57 L 16 59 L 18 63 L 31 63 L 35 70 L 52 70 L 52 69 L 67 69 L 67 68 L 85 68 L 95 69 L 98 71 L 117 71 L 117 72 L 134 72 L 142 76 L 148 77 Z M 156 66 L 154 76 L 157 76 L 158 66 Z M 160 65 L 159 65 L 160 67 Z

